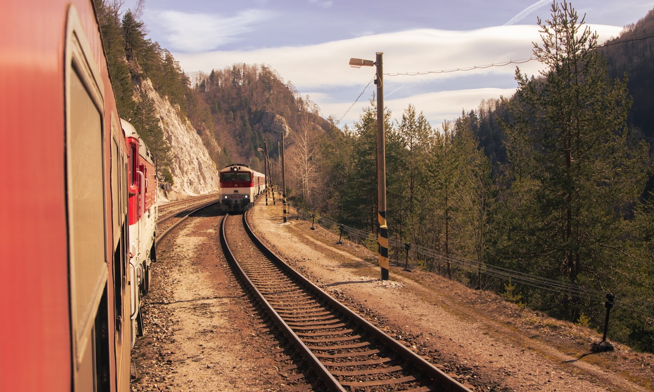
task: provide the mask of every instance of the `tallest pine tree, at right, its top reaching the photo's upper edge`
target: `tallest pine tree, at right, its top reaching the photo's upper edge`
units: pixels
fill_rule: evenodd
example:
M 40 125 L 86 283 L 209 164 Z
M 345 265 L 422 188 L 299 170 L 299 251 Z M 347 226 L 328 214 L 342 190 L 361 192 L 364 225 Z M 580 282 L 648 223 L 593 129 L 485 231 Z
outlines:
M 513 189 L 529 204 L 514 246 L 532 272 L 602 287 L 619 259 L 608 252 L 621 246 L 617 223 L 644 187 L 645 146 L 628 148 L 626 83 L 609 80 L 597 35 L 568 3 L 551 11 L 534 44 L 542 76 L 516 71 L 508 155 Z M 576 319 L 579 299 L 562 300 Z

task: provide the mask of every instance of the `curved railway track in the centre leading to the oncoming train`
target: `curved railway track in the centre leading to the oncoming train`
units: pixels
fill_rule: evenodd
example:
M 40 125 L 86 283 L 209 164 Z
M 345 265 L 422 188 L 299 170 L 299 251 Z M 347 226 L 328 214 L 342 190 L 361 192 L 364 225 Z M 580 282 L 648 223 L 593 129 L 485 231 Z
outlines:
M 226 215 L 220 240 L 255 302 L 330 391 L 468 391 L 306 280 Z

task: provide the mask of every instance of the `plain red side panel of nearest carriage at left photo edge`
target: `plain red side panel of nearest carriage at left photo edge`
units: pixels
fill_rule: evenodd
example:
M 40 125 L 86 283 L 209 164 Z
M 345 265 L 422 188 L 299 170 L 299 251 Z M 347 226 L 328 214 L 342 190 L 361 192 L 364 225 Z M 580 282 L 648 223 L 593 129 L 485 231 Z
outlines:
M 70 355 L 60 53 L 65 7 L 39 7 L 35 12 L 19 1 L 0 7 L 11 16 L 0 24 L 0 175 L 20 189 L 0 193 L 0 308 L 10 316 L 0 323 L 3 391 L 70 391 L 71 371 L 61 361 Z M 26 262 L 33 260 L 43 263 Z M 43 325 L 50 326 L 45 333 Z M 48 365 L 57 361 L 63 363 Z

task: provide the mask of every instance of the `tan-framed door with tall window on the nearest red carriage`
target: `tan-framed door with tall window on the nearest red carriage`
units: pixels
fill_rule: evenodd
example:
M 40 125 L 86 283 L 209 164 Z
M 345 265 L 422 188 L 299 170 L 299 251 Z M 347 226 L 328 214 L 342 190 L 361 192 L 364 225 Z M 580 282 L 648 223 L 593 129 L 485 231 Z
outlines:
M 65 48 L 66 203 L 75 391 L 110 389 L 104 86 L 76 8 L 69 7 Z

